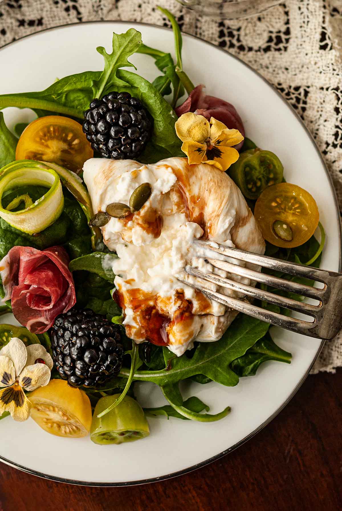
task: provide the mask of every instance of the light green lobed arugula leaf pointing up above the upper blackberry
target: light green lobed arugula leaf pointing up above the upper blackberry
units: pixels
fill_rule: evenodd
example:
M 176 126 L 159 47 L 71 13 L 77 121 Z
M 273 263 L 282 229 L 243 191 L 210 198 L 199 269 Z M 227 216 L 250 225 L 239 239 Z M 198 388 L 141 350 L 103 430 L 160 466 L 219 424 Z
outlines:
M 125 82 L 116 76 L 116 72 L 120 67 L 134 67 L 135 65 L 127 59 L 130 55 L 135 53 L 139 46 L 142 44 L 141 33 L 135 29 L 129 29 L 125 34 L 113 33 L 111 53 L 99 46 L 96 50 L 104 58 L 104 70 L 99 78 L 93 85 L 94 98 L 100 98 L 107 82 L 111 85 L 125 86 Z

